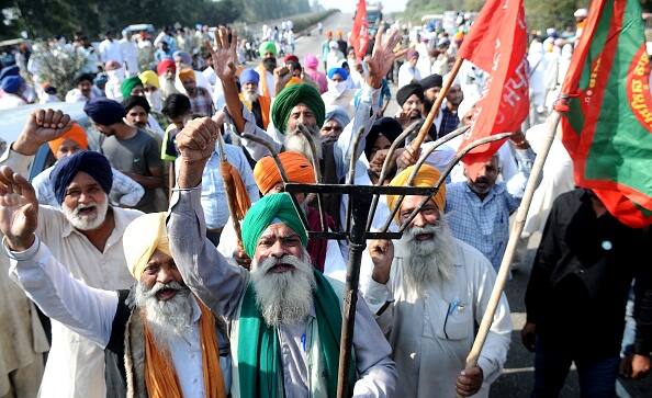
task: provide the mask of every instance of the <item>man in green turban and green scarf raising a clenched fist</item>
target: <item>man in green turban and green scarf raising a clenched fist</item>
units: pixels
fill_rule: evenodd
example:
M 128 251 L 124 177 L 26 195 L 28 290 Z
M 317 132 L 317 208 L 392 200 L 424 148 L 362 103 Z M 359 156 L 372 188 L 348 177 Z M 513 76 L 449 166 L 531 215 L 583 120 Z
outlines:
M 205 239 L 201 180 L 218 126 L 190 122 L 177 136 L 180 170 L 168 235 L 183 281 L 229 322 L 233 397 L 331 397 L 337 387 L 344 285 L 314 270 L 307 234 L 286 193 L 269 194 L 243 220 L 251 271 L 231 265 Z M 393 396 L 390 345 L 363 300 L 358 302 L 355 397 Z

